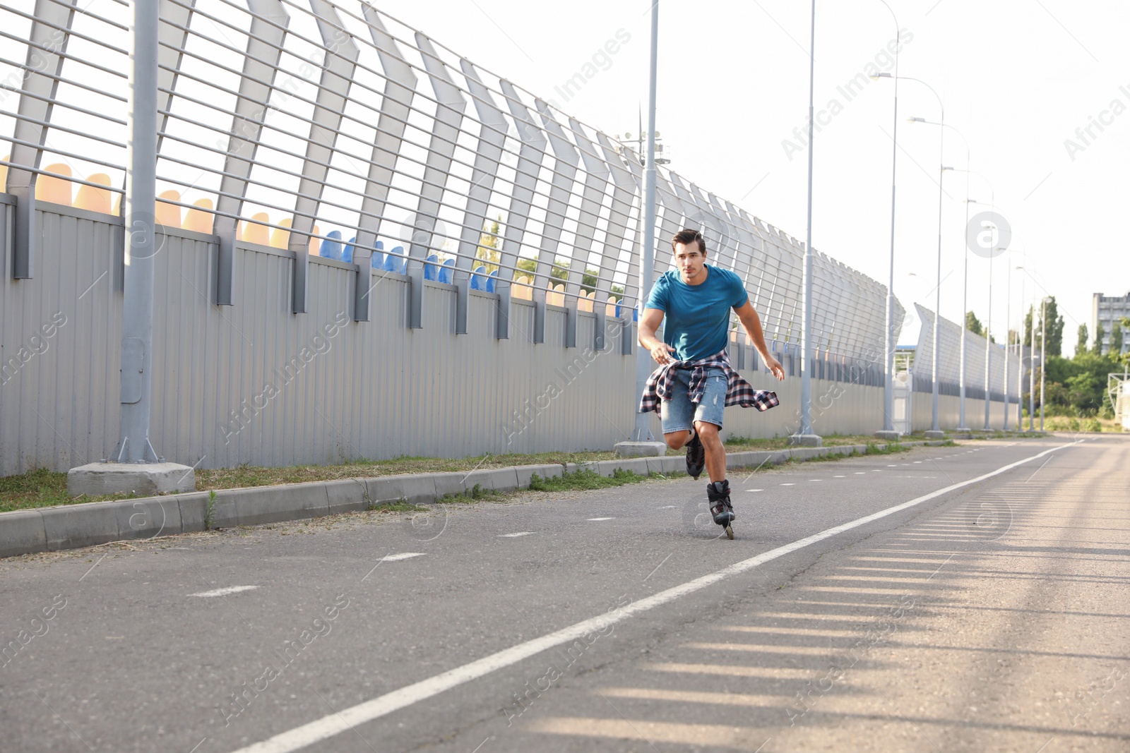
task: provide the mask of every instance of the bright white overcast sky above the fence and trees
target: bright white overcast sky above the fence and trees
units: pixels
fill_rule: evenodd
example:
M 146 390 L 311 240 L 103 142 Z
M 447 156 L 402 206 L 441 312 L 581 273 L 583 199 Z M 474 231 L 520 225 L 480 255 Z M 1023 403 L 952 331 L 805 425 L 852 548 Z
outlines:
M 816 3 L 814 247 L 886 284 L 897 152 L 894 290 L 906 309 L 935 308 L 940 290 L 941 315 L 959 322 L 967 261 L 964 308 L 991 319 L 999 341 L 1024 306 L 1053 295 L 1070 354 L 1093 294 L 1130 290 L 1130 3 L 888 2 L 899 32 L 880 0 Z M 606 133 L 636 134 L 641 112 L 646 122 L 647 2 L 375 5 Z M 669 167 L 805 239 L 810 5 L 660 0 L 659 15 L 655 130 Z M 894 81 L 858 76 L 894 73 L 895 46 L 897 132 Z M 588 63 L 597 73 L 563 96 Z M 931 124 L 939 98 L 951 128 Z M 955 170 L 941 181 L 939 289 L 941 165 Z M 974 227 L 994 210 L 1010 229 L 992 259 L 984 236 L 966 253 L 966 183 Z M 901 342 L 918 331 L 912 316 Z

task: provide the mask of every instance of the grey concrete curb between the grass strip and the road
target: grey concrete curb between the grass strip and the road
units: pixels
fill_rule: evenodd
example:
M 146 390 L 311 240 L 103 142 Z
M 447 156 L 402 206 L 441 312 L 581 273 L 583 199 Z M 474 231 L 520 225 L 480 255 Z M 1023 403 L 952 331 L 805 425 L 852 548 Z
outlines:
M 945 441 L 905 441 L 903 447 L 942 445 Z M 886 448 L 886 443 L 876 443 Z M 867 445 L 835 447 L 792 447 L 768 452 L 727 454 L 728 469 L 757 469 L 780 465 L 790 459 L 809 461 L 826 455 L 852 455 L 867 452 Z M 642 476 L 685 473 L 681 455 L 625 457 L 594 463 L 518 465 L 468 473 L 410 473 L 367 479 L 339 479 L 311 483 L 223 489 L 208 492 L 166 494 L 144 499 L 85 502 L 61 507 L 0 513 L 0 558 L 36 552 L 94 546 L 114 541 L 155 539 L 156 536 L 301 520 L 368 509 L 372 505 L 405 501 L 428 505 L 445 494 L 466 494 L 478 485 L 488 491 L 529 489 L 533 474 L 559 478 L 563 472 L 590 470 L 611 478 L 617 470 Z M 209 507 L 211 508 L 209 513 Z

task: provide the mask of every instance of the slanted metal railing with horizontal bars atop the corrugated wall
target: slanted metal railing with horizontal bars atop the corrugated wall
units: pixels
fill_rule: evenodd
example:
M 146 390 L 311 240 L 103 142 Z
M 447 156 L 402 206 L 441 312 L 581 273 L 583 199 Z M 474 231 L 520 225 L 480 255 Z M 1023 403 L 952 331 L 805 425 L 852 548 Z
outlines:
M 129 5 L 14 0 L 0 18 L 12 272 L 25 278 L 36 199 L 120 212 Z M 295 313 L 310 254 L 407 274 L 410 327 L 425 280 L 462 291 L 457 332 L 468 290 L 530 300 L 536 342 L 550 301 L 572 313 L 570 335 L 577 312 L 638 305 L 638 155 L 367 2 L 160 0 L 158 76 L 157 221 L 218 237 L 214 304 L 240 303 L 233 248 L 247 242 L 296 254 Z M 662 168 L 659 201 L 658 237 L 701 227 L 713 263 L 746 280 L 767 339 L 796 343 L 801 244 Z M 364 275 L 356 286 L 354 318 L 367 321 Z M 818 254 L 814 291 L 818 348 L 881 345 L 883 286 Z M 508 336 L 505 317 L 497 327 Z

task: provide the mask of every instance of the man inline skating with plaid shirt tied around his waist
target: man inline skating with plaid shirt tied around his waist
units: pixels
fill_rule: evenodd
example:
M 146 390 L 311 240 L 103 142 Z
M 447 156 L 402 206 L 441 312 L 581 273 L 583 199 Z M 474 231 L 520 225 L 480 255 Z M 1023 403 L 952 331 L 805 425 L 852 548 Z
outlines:
M 765 365 L 779 380 L 784 369 L 765 347 L 762 322 L 749 303 L 741 278 L 706 263 L 706 242 L 697 230 L 679 230 L 671 238 L 676 269 L 660 275 L 640 318 L 640 345 L 659 368 L 647 379 L 640 412 L 657 411 L 663 439 L 671 449 L 687 447 L 687 473 L 698 479 L 706 466 L 706 498 L 714 523 L 732 539 L 730 482 L 725 448 L 719 438 L 727 405 L 754 405 L 760 411 L 777 404 L 775 393 L 754 391 L 730 366 L 732 308 Z M 663 340 L 655 336 L 663 317 Z

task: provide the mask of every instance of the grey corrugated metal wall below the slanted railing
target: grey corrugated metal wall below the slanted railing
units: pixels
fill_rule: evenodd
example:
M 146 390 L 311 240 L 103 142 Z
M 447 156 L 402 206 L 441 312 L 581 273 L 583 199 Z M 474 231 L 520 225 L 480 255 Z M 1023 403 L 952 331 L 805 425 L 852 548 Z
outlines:
M 0 210 L 8 222 L 11 204 Z M 40 219 L 36 277 L 0 281 L 0 475 L 64 471 L 110 456 L 118 440 L 122 227 L 63 207 Z M 10 237 L 7 226 L 0 231 Z M 310 313 L 295 315 L 293 257 L 264 246 L 238 248 L 240 303 L 215 306 L 215 238 L 175 230 L 159 236 L 159 248 L 151 438 L 171 461 L 279 466 L 607 449 L 633 427 L 634 357 L 620 353 L 620 319 L 606 319 L 606 349 L 593 351 L 598 319 L 582 312 L 579 347 L 566 349 L 565 312 L 550 307 L 546 342 L 534 344 L 532 305 L 513 300 L 511 336 L 497 340 L 497 297 L 471 291 L 469 333 L 457 335 L 454 288 L 427 282 L 424 327 L 410 330 L 407 279 L 379 272 L 372 321 L 355 323 L 355 268 L 320 257 L 311 259 Z M 9 242 L 5 264 L 10 253 Z M 727 434 L 796 431 L 800 380 L 744 374 L 782 404 L 728 409 Z M 953 399 L 942 401 L 942 423 L 956 423 Z M 872 431 L 881 410 L 880 386 L 814 379 L 819 434 Z M 923 410 L 920 394 L 918 428 Z

